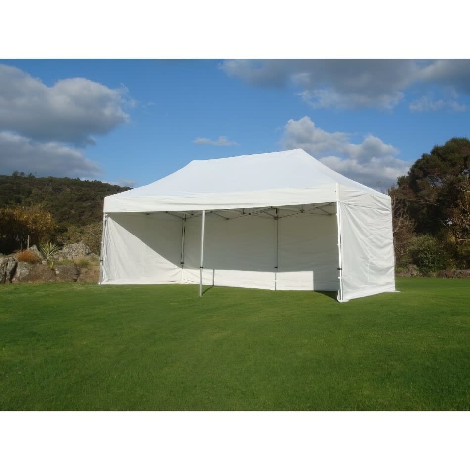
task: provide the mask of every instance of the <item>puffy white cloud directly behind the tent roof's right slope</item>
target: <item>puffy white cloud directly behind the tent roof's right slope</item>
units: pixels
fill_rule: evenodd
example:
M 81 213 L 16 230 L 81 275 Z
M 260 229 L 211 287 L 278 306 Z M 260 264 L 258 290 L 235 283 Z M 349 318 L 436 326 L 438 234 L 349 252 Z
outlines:
M 385 191 L 406 174 L 409 164 L 396 156 L 399 151 L 376 136 L 366 136 L 362 143 L 351 143 L 344 132 L 327 132 L 305 116 L 290 119 L 282 136 L 284 149 L 303 148 L 334 171 L 370 188 Z

